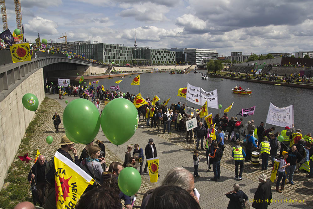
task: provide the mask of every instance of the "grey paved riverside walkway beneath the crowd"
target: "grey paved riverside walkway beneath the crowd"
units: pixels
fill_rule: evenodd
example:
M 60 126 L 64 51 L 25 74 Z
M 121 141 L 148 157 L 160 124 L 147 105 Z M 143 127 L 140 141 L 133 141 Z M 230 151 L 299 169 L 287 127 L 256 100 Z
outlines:
M 65 100 L 69 102 L 75 97 L 65 96 L 64 99 L 57 99 L 58 95 L 46 94 L 46 96 L 56 99 L 60 105 L 65 108 Z M 102 103 L 103 104 L 103 103 Z M 104 105 L 100 108 L 103 109 Z M 57 110 L 60 112 L 62 119 L 62 110 Z M 52 115 L 51 115 L 52 117 Z M 52 120 L 51 120 L 52 121 Z M 51 126 L 53 127 L 53 126 Z M 63 128 L 60 125 L 60 128 Z M 62 130 L 61 130 L 62 132 Z M 139 123 L 139 128 L 137 129 L 134 136 L 127 141 L 125 144 L 117 147 L 116 161 L 123 163 L 125 152 L 127 150 L 127 145 L 139 144 L 141 148 L 145 148 L 148 143 L 148 138 L 153 138 L 156 144 L 157 155 L 159 157 L 160 164 L 160 177 L 157 183 L 150 183 L 149 175 L 142 175 L 142 185 L 138 191 L 138 200 L 136 205 L 139 205 L 142 200 L 142 194 L 145 193 L 150 188 L 156 187 L 161 184 L 168 170 L 175 166 L 182 166 L 193 173 L 193 143 L 185 142 L 185 133 L 175 132 L 171 134 L 157 133 L 156 128 L 150 128 L 145 125 L 145 123 Z M 107 165 L 113 161 L 116 146 L 111 144 L 104 136 L 101 128 L 96 139 L 104 142 L 106 147 L 106 159 L 108 161 Z M 81 149 L 83 145 L 78 145 Z M 249 197 L 248 204 L 252 205 L 252 199 L 254 193 L 258 187 L 258 176 L 261 173 L 270 176 L 270 169 L 267 171 L 261 171 L 260 167 L 254 167 L 248 163 L 244 164 L 243 180 L 237 181 L 234 179 L 234 161 L 231 158 L 231 150 L 233 144 L 231 142 L 225 142 L 225 150 L 221 162 L 221 178 L 218 182 L 211 181 L 210 178 L 213 177 L 213 171 L 207 172 L 207 165 L 205 159 L 205 151 L 200 151 L 200 156 L 202 157 L 198 173 L 200 178 L 195 179 L 195 187 L 200 193 L 200 206 L 201 208 L 227 208 L 229 199 L 226 198 L 225 193 L 233 190 L 233 184 L 238 183 L 240 189 L 246 193 Z M 110 150 L 110 151 L 109 151 Z M 144 163 L 145 165 L 145 163 Z M 310 179 L 305 179 L 303 173 L 296 174 L 294 176 L 295 184 L 298 185 L 286 185 L 285 190 L 282 194 L 275 191 L 275 182 L 272 184 L 273 199 L 282 201 L 282 203 L 272 203 L 269 208 L 312 208 L 312 198 L 313 198 L 313 184 Z M 289 203 L 287 201 L 304 200 L 305 203 Z M 249 208 L 249 207 L 248 207 Z M 252 207 L 251 207 L 252 208 Z

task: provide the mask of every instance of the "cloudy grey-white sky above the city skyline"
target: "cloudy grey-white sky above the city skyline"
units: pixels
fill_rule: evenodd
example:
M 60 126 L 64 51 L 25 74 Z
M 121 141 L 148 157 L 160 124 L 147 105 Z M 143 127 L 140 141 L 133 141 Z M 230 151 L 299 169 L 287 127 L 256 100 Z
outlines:
M 26 39 L 216 49 L 219 55 L 313 50 L 312 0 L 22 0 Z M 16 28 L 6 1 L 9 29 Z

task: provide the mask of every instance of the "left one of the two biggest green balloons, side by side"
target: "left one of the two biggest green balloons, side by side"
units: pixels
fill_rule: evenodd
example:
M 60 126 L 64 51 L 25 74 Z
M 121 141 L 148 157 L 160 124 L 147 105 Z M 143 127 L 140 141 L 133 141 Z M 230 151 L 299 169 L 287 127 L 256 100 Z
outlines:
M 98 108 L 89 100 L 75 99 L 65 107 L 63 125 L 66 136 L 75 143 L 89 144 L 100 129 Z

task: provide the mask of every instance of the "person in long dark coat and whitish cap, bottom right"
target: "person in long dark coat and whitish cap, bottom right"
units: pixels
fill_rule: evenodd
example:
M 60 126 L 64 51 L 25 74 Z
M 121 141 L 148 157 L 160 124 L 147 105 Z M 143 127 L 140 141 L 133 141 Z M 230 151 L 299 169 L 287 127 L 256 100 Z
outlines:
M 272 190 L 269 182 L 266 181 L 267 176 L 261 174 L 259 176 L 259 186 L 256 190 L 252 202 L 252 207 L 256 209 L 266 209 L 272 200 Z

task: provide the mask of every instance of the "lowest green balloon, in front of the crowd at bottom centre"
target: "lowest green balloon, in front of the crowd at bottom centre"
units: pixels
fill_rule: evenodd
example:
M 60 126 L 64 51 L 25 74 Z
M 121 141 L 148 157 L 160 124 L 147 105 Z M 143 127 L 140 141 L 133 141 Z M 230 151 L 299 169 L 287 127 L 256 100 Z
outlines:
M 135 168 L 127 167 L 121 170 L 117 183 L 121 192 L 127 196 L 133 196 L 140 189 L 141 175 Z

